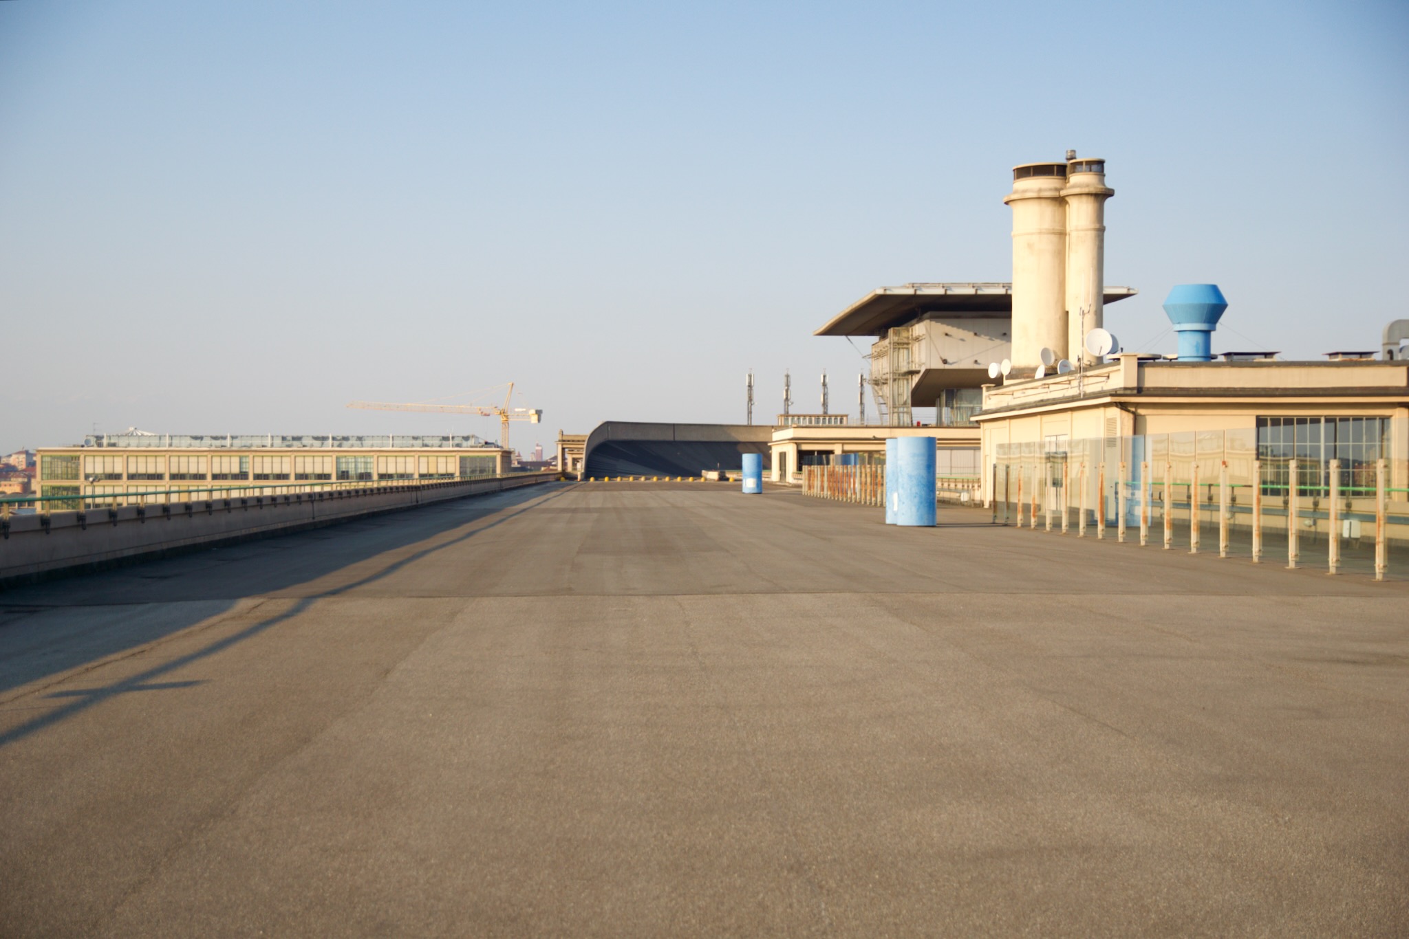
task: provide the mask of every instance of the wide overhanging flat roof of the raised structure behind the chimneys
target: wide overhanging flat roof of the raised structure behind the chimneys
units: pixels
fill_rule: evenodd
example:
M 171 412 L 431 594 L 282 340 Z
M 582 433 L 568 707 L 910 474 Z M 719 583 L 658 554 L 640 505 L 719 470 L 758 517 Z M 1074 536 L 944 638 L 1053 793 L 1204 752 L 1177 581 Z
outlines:
M 1134 287 L 1106 287 L 1102 297 L 1115 303 L 1138 293 Z M 907 283 L 876 287 L 838 313 L 814 336 L 879 336 L 892 327 L 913 322 L 927 313 L 954 317 L 1013 315 L 1010 283 Z

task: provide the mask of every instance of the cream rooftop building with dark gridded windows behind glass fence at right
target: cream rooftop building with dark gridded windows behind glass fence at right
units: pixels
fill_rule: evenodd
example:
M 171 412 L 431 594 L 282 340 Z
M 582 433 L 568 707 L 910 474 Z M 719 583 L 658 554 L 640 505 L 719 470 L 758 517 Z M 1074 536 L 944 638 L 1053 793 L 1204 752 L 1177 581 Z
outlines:
M 1384 460 L 1392 500 L 1402 501 L 1409 487 L 1409 362 L 1402 359 L 1119 355 L 1079 372 L 992 384 L 974 420 L 982 428 L 985 491 L 1005 501 L 1013 494 L 1003 491 L 1003 467 L 1019 463 L 1029 474 L 1041 463 L 1053 480 L 1102 473 L 1107 489 L 1119 479 L 1131 491 L 1147 476 L 1158 483 L 1195 472 L 1209 483 L 1227 472 L 1282 491 L 1296 460 L 1298 484 L 1316 494 L 1332 491 L 1333 466 L 1339 489 L 1372 490 Z M 1031 493 L 1030 479 L 1024 486 Z M 1043 498 L 1054 497 L 1044 491 Z

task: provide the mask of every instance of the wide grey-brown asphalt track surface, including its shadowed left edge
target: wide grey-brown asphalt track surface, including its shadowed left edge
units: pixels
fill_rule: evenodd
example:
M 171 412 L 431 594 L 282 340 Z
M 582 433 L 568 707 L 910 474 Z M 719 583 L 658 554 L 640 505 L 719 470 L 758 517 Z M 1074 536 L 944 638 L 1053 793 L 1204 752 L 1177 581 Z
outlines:
M 0 594 L 7 936 L 1409 935 L 1409 587 L 555 484 Z

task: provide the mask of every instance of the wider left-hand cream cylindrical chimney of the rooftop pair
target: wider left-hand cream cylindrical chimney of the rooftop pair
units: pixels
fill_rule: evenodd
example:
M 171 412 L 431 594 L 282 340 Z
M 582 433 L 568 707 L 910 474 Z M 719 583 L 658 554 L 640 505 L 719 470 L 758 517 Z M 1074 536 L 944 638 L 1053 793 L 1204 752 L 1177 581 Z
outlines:
M 1043 346 L 1067 358 L 1065 163 L 1013 168 L 1013 367 L 1033 370 Z

